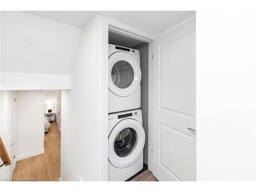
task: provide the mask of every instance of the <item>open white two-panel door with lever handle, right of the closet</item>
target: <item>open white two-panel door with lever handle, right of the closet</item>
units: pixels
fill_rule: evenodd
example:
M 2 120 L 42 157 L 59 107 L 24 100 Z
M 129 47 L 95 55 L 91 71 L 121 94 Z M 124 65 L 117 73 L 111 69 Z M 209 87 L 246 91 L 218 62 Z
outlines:
M 153 44 L 153 174 L 160 181 L 195 181 L 195 21 Z

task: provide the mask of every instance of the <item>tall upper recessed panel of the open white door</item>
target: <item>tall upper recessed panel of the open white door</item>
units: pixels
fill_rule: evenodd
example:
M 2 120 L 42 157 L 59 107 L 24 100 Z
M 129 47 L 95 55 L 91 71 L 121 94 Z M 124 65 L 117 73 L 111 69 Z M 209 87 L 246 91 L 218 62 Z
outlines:
M 195 63 L 194 63 L 194 58 L 193 58 L 193 55 L 194 55 L 194 46 L 193 45 L 195 43 L 194 36 L 195 36 L 195 31 L 191 31 L 191 32 L 185 33 L 185 34 L 183 34 L 183 35 L 181 35 L 181 36 L 179 36 L 175 39 L 172 39 L 172 40 L 169 40 L 169 41 L 165 42 L 164 45 L 159 46 L 159 63 L 160 63 L 160 66 L 159 66 L 159 82 L 160 82 L 160 84 L 159 84 L 159 89 L 160 89 L 159 90 L 159 94 L 160 94 L 159 99 L 160 99 L 160 105 L 159 106 L 161 108 L 168 109 L 168 110 L 173 111 L 173 112 L 188 114 L 188 115 L 191 115 L 191 116 L 195 116 L 195 114 L 196 114 L 196 110 L 194 110 L 196 99 L 195 99 L 195 92 L 193 92 L 193 90 L 195 89 L 196 84 L 195 84 L 195 82 L 187 82 L 187 81 L 189 81 L 190 79 L 193 79 L 195 77 L 187 78 L 187 80 L 185 82 L 182 82 L 182 81 L 184 81 L 184 79 L 186 79 L 186 77 L 183 78 L 184 75 L 191 75 L 191 76 L 195 75 L 195 69 L 194 69 Z M 189 39 L 190 41 L 192 41 L 192 42 L 190 42 L 190 44 L 189 44 L 189 42 L 186 41 L 187 38 L 191 38 L 191 39 Z M 182 45 L 182 40 L 185 41 L 185 45 Z M 183 42 L 183 44 L 184 44 L 184 42 Z M 166 47 L 166 46 L 171 46 L 171 48 Z M 188 46 L 190 46 L 190 47 L 188 47 Z M 167 49 L 167 51 L 168 51 L 168 53 L 166 53 L 166 54 L 162 54 L 164 47 L 166 47 L 165 49 Z M 178 48 L 180 48 L 180 50 Z M 187 52 L 191 52 L 191 54 L 189 55 L 189 53 L 188 53 L 188 54 L 186 54 L 185 57 L 180 57 L 181 54 L 177 53 L 177 51 L 181 51 L 181 52 L 183 52 L 182 54 L 184 54 L 185 49 L 191 49 L 191 50 L 187 50 Z M 176 53 L 172 55 L 170 53 L 170 51 L 176 52 Z M 162 58 L 163 55 L 167 55 L 168 58 L 167 58 L 167 61 L 165 61 L 167 63 L 165 63 L 163 61 L 163 60 L 166 60 L 166 59 Z M 188 58 L 188 55 L 191 58 Z M 174 62 L 172 62 L 173 57 L 178 57 L 178 58 L 175 58 L 176 60 Z M 183 59 L 183 62 L 181 61 L 181 59 Z M 175 62 L 178 62 L 179 68 L 174 66 L 174 65 L 172 66 L 172 63 L 175 63 Z M 183 64 L 183 66 L 181 66 L 182 64 Z M 182 69 L 180 69 L 181 67 L 182 67 Z M 168 69 L 163 69 L 163 68 L 168 68 Z M 187 73 L 184 74 L 185 70 L 190 70 L 190 71 L 192 71 L 192 73 L 190 71 L 187 71 Z M 163 73 L 165 73 L 164 75 L 166 77 L 171 78 L 168 81 L 169 83 L 172 83 L 172 81 L 175 81 L 177 79 L 180 81 L 180 83 L 177 84 L 177 86 L 179 86 L 179 87 L 176 87 L 175 90 L 173 90 L 173 91 L 176 91 L 176 94 L 172 94 L 172 93 L 168 94 L 168 92 L 171 92 L 171 90 L 168 90 L 168 89 L 172 86 L 170 86 L 169 83 L 168 84 L 162 83 L 162 79 L 165 77 L 165 76 L 163 77 Z M 177 73 L 180 73 L 180 74 L 176 75 Z M 176 84 L 176 82 L 173 83 L 173 85 L 174 84 Z M 182 87 L 185 87 L 185 89 L 183 88 L 184 89 L 183 92 L 185 92 L 185 93 L 179 93 L 180 89 Z M 178 93 L 179 93 L 179 95 L 177 95 Z M 182 106 L 183 109 L 177 109 L 178 106 L 175 106 L 175 105 L 178 104 L 177 100 L 179 100 L 179 99 L 171 98 L 171 97 L 176 95 L 176 97 L 181 98 L 183 95 L 186 96 L 188 94 L 191 97 L 187 97 L 187 99 L 190 99 L 190 100 L 186 101 L 186 99 L 185 99 L 185 103 L 183 104 L 183 105 L 186 106 L 186 109 L 184 109 L 185 106 Z M 163 98 L 164 95 L 166 95 L 166 97 L 167 97 L 167 100 L 165 99 L 165 102 L 164 102 L 164 98 Z M 172 103 L 170 103 L 170 102 L 172 102 Z M 183 99 L 182 102 L 184 102 L 184 99 Z M 170 106 L 164 106 L 164 104 L 168 104 L 168 103 L 169 103 Z M 187 107 L 189 107 L 190 109 L 187 109 Z

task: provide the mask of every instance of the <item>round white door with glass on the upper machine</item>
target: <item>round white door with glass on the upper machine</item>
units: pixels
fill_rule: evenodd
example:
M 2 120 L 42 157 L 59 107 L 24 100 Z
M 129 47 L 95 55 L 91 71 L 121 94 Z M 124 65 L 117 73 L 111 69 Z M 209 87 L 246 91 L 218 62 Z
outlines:
M 139 87 L 139 62 L 129 53 L 116 52 L 109 57 L 109 89 L 120 97 L 132 95 Z

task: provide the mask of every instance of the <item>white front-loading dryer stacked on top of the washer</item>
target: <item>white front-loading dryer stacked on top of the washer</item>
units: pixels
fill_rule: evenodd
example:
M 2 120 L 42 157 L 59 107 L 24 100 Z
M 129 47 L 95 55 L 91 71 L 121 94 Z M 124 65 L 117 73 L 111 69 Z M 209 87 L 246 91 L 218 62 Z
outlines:
M 109 113 L 140 108 L 140 53 L 109 44 Z

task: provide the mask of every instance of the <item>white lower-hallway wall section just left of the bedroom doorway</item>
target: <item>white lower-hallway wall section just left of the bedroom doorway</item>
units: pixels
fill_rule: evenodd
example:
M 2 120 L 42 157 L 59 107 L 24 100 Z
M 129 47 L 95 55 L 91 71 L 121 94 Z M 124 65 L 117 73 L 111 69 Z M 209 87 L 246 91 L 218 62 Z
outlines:
M 17 160 L 44 153 L 44 91 L 16 91 Z

